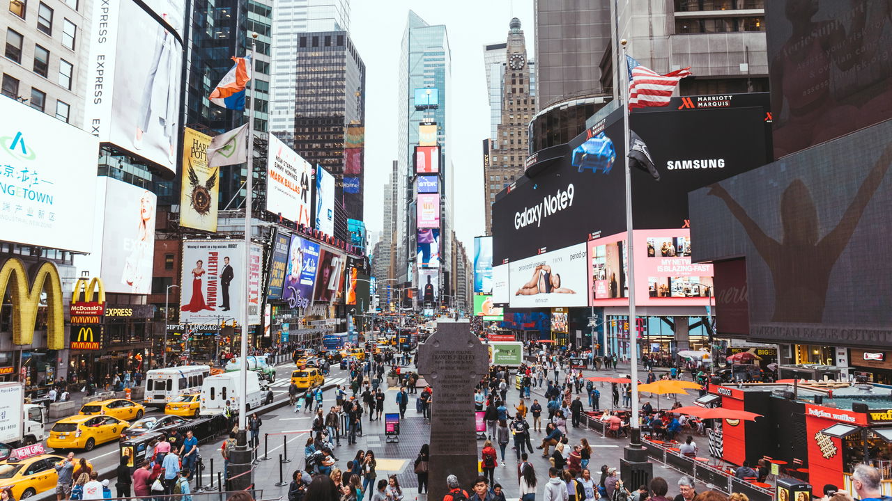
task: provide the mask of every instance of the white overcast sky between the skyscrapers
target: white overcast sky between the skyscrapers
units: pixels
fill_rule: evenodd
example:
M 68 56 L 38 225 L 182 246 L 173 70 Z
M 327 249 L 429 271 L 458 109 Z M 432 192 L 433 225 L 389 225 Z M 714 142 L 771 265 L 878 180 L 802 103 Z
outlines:
M 383 225 L 383 187 L 397 154 L 397 89 L 400 43 L 409 9 L 430 25 L 444 24 L 452 54 L 447 124 L 455 168 L 453 221 L 470 254 L 483 234 L 483 152 L 490 134 L 490 109 L 483 69 L 483 45 L 505 42 L 508 22 L 517 17 L 534 59 L 533 0 L 353 0 L 351 37 L 366 63 L 365 217 L 369 230 Z

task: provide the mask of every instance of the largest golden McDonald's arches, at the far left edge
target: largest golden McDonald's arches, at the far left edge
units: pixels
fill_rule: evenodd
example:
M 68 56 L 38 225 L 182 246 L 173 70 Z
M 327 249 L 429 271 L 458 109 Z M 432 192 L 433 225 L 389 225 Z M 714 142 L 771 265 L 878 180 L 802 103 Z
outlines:
M 62 281 L 53 263 L 35 263 L 26 271 L 21 259 L 6 259 L 0 267 L 0 297 L 9 292 L 12 301 L 12 344 L 34 342 L 34 325 L 40 292 L 46 292 L 46 348 L 65 348 L 65 313 Z

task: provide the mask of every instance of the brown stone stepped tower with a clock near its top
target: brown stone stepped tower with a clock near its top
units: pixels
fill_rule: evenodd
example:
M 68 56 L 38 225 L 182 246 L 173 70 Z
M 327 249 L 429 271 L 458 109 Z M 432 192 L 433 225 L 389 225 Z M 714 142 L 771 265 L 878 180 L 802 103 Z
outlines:
M 517 18 L 508 24 L 505 51 L 501 76 L 501 123 L 496 137 L 491 138 L 489 162 L 483 166 L 486 234 L 492 234 L 492 202 L 496 200 L 496 193 L 524 175 L 524 160 L 529 155 L 527 129 L 536 109 L 524 30 L 520 29 Z

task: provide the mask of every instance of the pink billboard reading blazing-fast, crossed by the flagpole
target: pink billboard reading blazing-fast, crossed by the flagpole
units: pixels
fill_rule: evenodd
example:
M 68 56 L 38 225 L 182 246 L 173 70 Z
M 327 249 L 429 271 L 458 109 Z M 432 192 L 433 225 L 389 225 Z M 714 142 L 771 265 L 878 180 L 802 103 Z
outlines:
M 706 306 L 713 265 L 692 263 L 690 230 L 635 230 L 635 302 L 642 306 Z M 590 306 L 628 304 L 625 234 L 588 242 Z M 622 264 L 621 264 L 622 263 Z

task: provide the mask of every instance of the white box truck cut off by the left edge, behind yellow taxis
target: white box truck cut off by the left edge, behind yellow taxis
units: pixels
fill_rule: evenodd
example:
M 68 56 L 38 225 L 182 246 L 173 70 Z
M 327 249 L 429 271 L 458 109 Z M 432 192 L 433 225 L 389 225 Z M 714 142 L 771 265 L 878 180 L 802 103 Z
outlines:
M 25 403 L 21 382 L 0 382 L 0 442 L 12 447 L 46 438 L 46 407 Z

